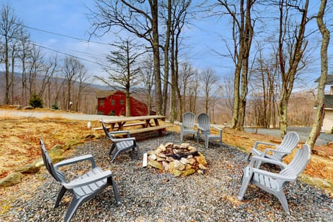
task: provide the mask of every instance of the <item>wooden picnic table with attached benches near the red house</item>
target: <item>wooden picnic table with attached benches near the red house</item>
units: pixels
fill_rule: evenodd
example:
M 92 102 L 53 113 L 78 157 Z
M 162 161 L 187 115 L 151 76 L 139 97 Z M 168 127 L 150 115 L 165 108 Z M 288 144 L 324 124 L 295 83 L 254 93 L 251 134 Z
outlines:
M 163 129 L 170 127 L 172 125 L 162 125 L 158 120 L 164 120 L 166 116 L 160 115 L 151 115 L 151 116 L 139 116 L 139 117 L 117 117 L 112 119 L 103 119 L 103 122 L 110 125 L 109 131 L 119 131 L 124 130 L 125 127 L 129 126 L 142 126 L 141 128 L 135 128 L 129 130 L 130 133 L 142 133 L 153 130 L 160 130 L 162 132 Z M 153 120 L 153 122 L 151 122 Z M 131 121 L 140 121 L 135 123 L 128 123 Z

